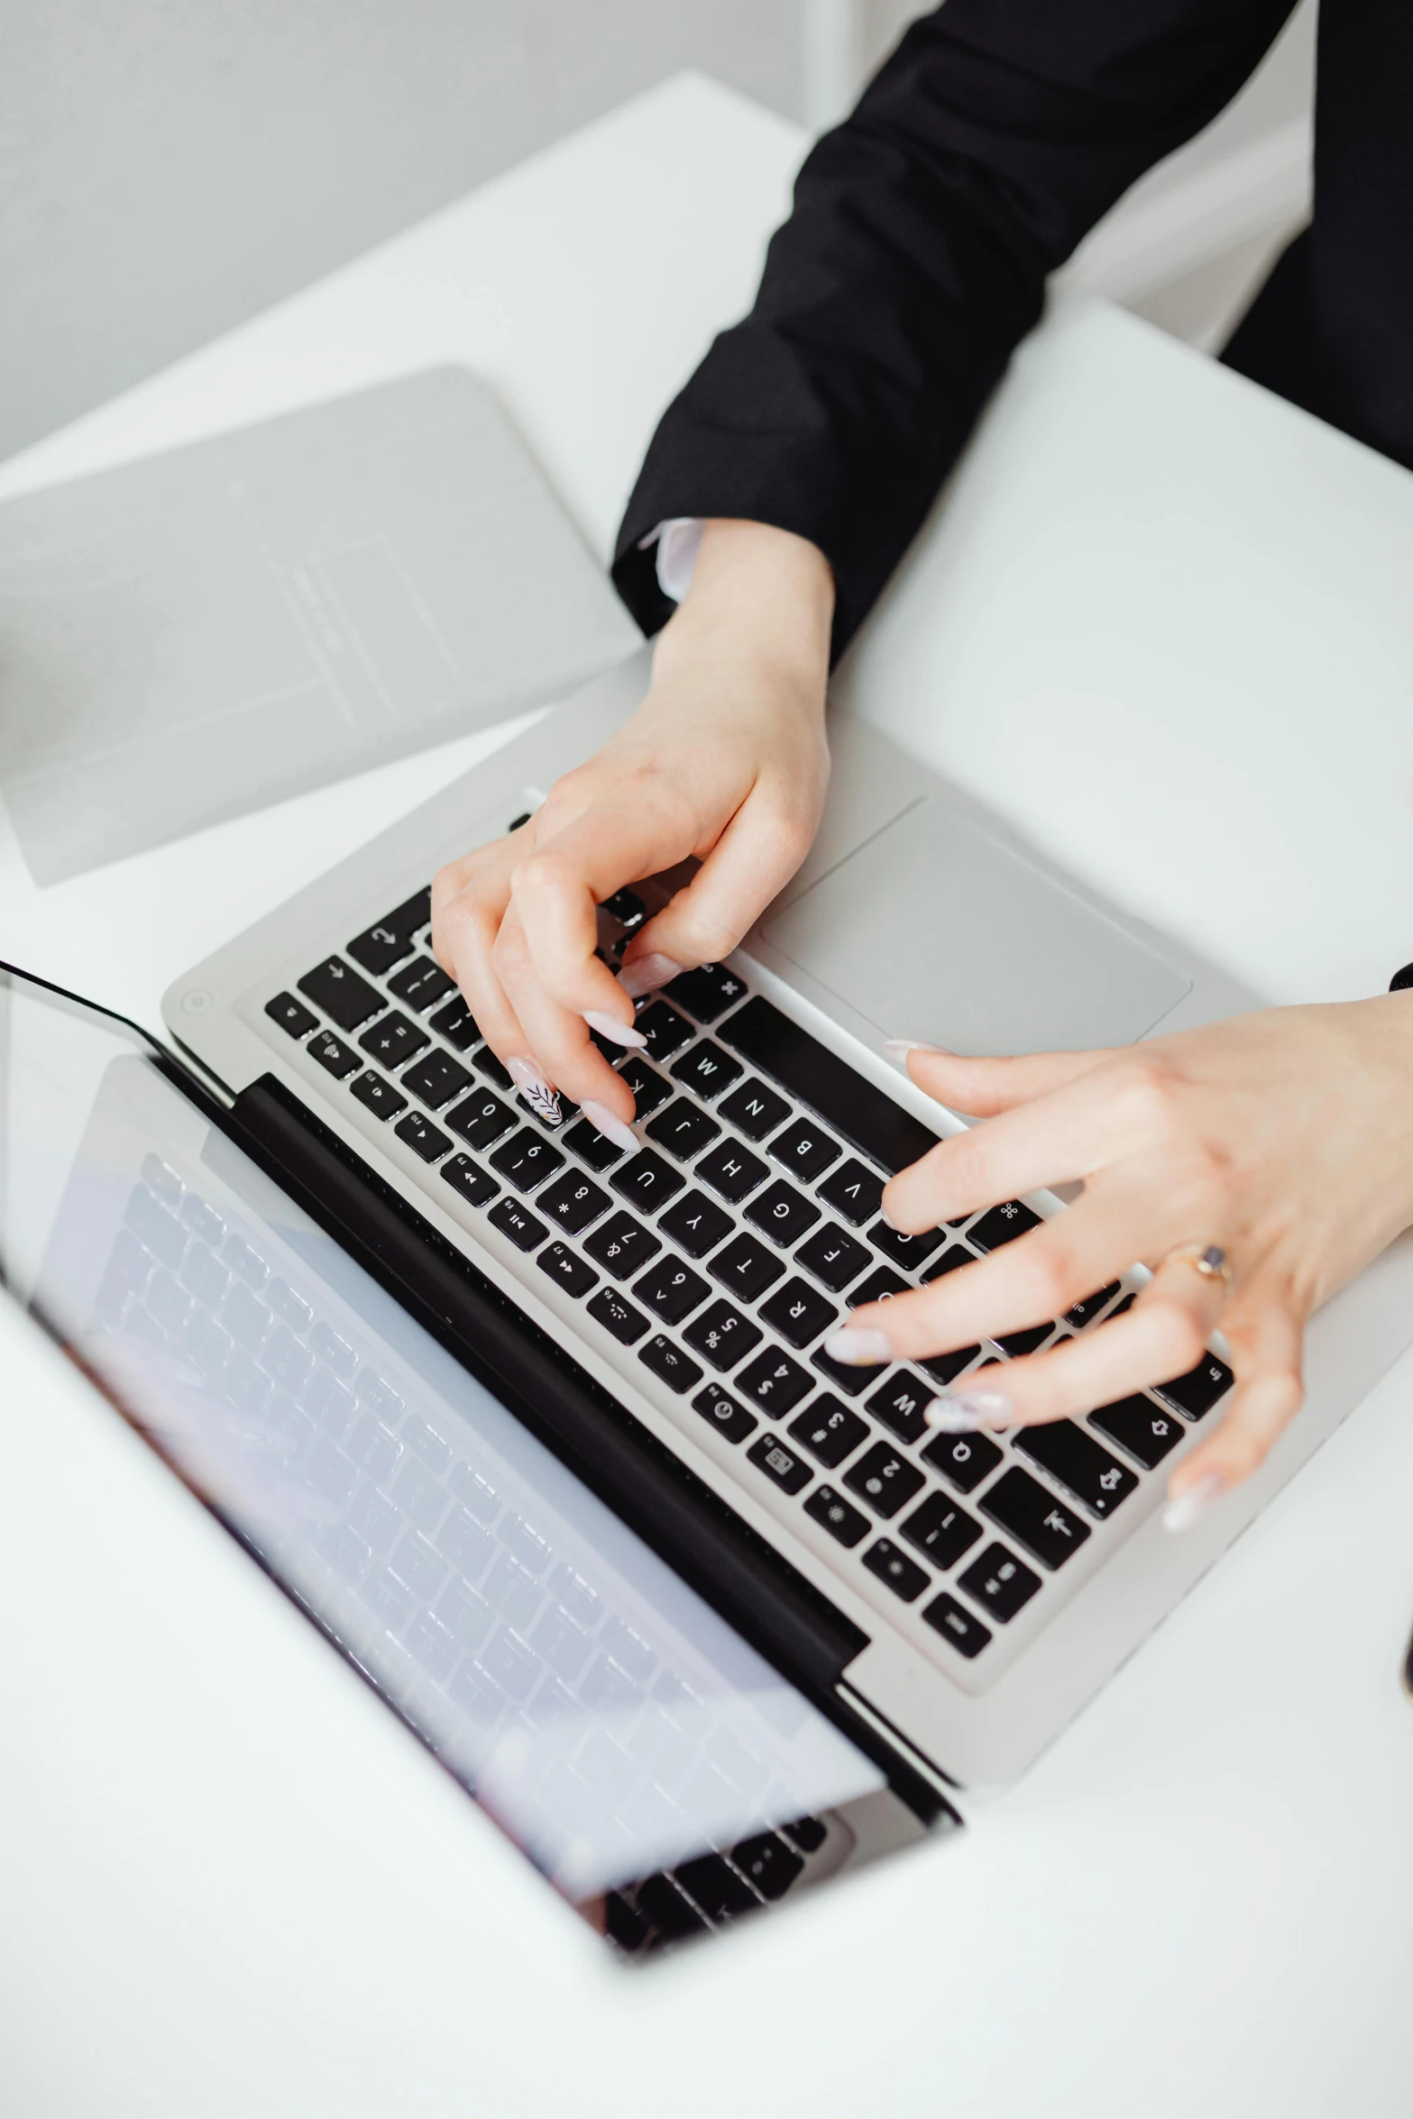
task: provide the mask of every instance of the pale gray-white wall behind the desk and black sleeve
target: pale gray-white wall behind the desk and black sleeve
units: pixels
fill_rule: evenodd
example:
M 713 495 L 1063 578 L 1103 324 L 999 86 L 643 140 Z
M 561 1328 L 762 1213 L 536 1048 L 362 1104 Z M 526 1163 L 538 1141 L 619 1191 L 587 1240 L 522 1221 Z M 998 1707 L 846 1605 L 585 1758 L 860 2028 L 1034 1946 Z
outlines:
M 822 125 L 915 13 L 4 0 L 0 456 L 680 66 Z M 1241 104 L 1099 231 L 1085 284 L 1220 335 L 1301 212 L 1309 19 L 1305 0 Z

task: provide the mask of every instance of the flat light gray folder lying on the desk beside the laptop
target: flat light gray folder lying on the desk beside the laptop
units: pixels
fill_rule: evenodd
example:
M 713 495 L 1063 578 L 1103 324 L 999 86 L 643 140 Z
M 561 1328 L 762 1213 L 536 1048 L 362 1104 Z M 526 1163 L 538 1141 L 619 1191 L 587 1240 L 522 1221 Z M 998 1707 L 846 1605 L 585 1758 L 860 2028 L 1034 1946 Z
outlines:
M 53 884 L 638 644 L 491 392 L 430 369 L 0 504 L 0 790 Z

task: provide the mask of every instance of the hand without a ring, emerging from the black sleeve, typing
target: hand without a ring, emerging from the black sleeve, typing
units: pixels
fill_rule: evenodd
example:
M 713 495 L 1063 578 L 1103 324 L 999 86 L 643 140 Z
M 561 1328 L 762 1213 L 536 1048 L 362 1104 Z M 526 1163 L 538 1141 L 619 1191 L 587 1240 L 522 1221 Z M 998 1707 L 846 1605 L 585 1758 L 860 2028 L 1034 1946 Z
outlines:
M 561 1089 L 612 1138 L 633 1096 L 589 1030 L 642 1043 L 633 996 L 727 956 L 809 850 L 828 782 L 833 606 L 828 562 L 805 538 L 710 521 L 633 718 L 519 831 L 432 884 L 436 958 L 517 1087 Z M 688 854 L 701 867 L 614 979 L 595 956 L 595 907 Z

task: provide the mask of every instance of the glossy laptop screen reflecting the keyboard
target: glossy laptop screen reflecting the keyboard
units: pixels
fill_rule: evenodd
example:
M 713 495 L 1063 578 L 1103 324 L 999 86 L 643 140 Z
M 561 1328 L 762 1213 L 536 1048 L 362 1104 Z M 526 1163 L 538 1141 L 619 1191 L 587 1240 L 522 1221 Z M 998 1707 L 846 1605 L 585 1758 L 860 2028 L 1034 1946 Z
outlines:
M 612 1941 L 919 1837 L 136 1032 L 4 975 L 0 1110 L 8 1293 Z

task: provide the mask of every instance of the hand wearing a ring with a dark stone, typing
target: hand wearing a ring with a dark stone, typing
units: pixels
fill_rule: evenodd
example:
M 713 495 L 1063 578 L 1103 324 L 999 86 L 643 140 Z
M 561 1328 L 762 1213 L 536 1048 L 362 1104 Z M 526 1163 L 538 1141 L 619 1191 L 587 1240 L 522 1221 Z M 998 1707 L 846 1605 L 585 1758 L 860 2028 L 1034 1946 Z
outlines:
M 1169 1521 L 1191 1521 L 1294 1418 L 1309 1314 L 1413 1223 L 1413 994 L 1267 1009 L 1121 1051 L 960 1060 L 911 1045 L 907 1068 L 987 1123 L 892 1178 L 894 1227 L 922 1233 L 1074 1178 L 1085 1189 L 979 1263 L 856 1310 L 830 1354 L 951 1352 L 1059 1318 L 1142 1261 L 1152 1280 L 1125 1316 L 972 1371 L 943 1394 L 938 1424 L 1083 1415 L 1182 1375 L 1220 1326 L 1235 1388 L 1171 1479 Z M 1229 1286 L 1195 1269 L 1208 1246 Z

